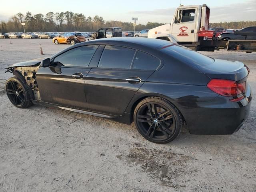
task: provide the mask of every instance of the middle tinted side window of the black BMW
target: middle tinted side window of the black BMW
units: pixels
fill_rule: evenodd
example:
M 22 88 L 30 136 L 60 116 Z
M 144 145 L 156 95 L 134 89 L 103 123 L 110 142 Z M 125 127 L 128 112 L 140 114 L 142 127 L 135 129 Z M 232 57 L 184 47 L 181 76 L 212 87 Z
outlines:
M 134 49 L 106 45 L 98 67 L 130 69 L 134 54 Z

